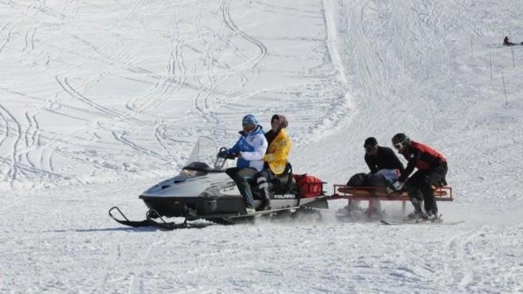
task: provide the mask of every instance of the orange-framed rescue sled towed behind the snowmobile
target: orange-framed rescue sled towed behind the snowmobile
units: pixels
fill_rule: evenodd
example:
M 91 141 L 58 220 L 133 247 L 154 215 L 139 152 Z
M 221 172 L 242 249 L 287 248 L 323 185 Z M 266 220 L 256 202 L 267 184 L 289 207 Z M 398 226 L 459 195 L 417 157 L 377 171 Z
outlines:
M 434 187 L 436 201 L 453 201 L 452 187 Z M 372 201 L 402 201 L 402 213 L 405 214 L 407 201 L 410 202 L 406 191 L 387 194 L 386 187 L 351 187 L 334 185 L 334 194 L 331 199 L 347 199 L 349 201 L 369 201 L 367 217 L 372 217 Z

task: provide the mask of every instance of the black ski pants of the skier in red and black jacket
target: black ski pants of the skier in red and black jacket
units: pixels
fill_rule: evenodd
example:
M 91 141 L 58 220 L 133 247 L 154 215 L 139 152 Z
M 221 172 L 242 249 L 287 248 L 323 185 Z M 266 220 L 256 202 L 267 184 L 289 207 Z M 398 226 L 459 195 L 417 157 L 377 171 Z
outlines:
M 425 212 L 436 215 L 438 213 L 438 206 L 434 198 L 434 190 L 432 185 L 441 183 L 447 174 L 448 167 L 446 162 L 441 162 L 438 167 L 426 171 L 416 171 L 409 180 L 407 180 L 407 191 L 411 198 L 414 207 L 416 203 L 423 201 L 425 203 Z M 423 199 L 421 199 L 423 195 Z M 418 204 L 419 206 L 419 204 Z

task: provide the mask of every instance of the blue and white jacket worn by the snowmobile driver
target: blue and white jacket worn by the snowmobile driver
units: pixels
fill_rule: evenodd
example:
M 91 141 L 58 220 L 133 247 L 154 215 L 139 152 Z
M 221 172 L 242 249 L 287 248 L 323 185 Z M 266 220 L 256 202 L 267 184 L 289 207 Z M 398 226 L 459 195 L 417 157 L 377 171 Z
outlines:
M 240 169 L 252 167 L 261 171 L 264 168 L 264 155 L 268 146 L 261 125 L 257 125 L 250 132 L 241 131 L 240 134 L 241 137 L 236 144 L 227 150 L 229 153 L 241 154 L 241 158 L 238 157 L 236 162 L 236 167 Z

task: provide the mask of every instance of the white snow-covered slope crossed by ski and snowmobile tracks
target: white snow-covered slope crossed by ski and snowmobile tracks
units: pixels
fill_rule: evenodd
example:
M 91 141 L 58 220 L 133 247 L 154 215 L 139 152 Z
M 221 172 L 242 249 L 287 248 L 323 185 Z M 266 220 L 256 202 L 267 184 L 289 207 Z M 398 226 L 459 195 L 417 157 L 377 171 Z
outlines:
M 0 293 L 521 293 L 523 49 L 499 45 L 522 20 L 513 0 L 0 1 Z M 448 157 L 439 208 L 466 222 L 107 216 L 143 219 L 139 193 L 248 113 L 285 114 L 295 171 L 331 184 L 406 132 Z

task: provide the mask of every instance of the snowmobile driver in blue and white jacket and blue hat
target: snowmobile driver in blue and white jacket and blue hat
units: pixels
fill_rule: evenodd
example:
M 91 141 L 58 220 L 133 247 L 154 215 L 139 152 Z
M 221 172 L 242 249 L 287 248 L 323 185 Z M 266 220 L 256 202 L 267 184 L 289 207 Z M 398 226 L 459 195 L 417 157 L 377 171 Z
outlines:
M 264 167 L 264 155 L 267 150 L 267 139 L 258 120 L 252 114 L 243 117 L 241 122 L 243 130 L 240 139 L 228 150 L 218 153 L 220 157 L 230 157 L 236 155 L 238 160 L 236 167 L 227 169 L 227 174 L 238 186 L 241 196 L 245 200 L 245 211 L 255 212 L 255 201 L 252 199 L 252 192 L 249 180 Z

